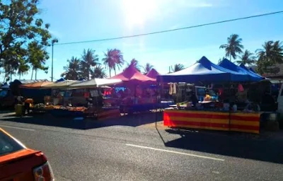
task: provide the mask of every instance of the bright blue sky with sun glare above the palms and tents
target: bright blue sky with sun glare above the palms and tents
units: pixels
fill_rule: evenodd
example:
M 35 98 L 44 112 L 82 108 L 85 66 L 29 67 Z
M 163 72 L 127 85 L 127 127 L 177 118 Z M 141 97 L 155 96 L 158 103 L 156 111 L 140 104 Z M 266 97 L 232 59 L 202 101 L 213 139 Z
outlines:
M 59 42 L 77 42 L 107 37 L 150 33 L 202 23 L 282 11 L 280 0 L 42 0 L 41 17 L 50 23 L 50 32 Z M 83 49 L 95 49 L 99 58 L 108 48 L 122 51 L 129 62 L 141 65 L 149 62 L 161 74 L 168 66 L 190 66 L 206 56 L 217 63 L 224 57 L 219 45 L 236 33 L 243 38 L 245 49 L 255 51 L 266 40 L 283 40 L 283 13 L 275 16 L 234 21 L 171 33 L 134 37 L 105 42 L 89 42 L 54 46 L 54 78 L 59 78 L 67 59 L 81 57 Z M 37 78 L 51 77 L 51 47 L 49 73 L 38 72 Z M 107 71 L 108 72 L 108 71 Z M 23 78 L 30 79 L 30 73 Z M 17 78 L 17 77 L 16 77 Z

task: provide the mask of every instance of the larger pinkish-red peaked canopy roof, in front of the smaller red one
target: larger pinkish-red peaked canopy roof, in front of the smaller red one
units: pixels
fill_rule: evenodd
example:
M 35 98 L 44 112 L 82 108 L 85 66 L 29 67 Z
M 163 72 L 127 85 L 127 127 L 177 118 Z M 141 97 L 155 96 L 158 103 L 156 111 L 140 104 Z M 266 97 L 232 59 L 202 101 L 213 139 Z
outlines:
M 112 76 L 111 78 L 120 79 L 122 81 L 129 81 L 131 83 L 156 82 L 156 78 L 150 78 L 148 76 L 145 76 L 144 74 L 141 74 L 134 66 L 128 66 L 125 71 L 120 74 L 117 74 L 117 76 Z

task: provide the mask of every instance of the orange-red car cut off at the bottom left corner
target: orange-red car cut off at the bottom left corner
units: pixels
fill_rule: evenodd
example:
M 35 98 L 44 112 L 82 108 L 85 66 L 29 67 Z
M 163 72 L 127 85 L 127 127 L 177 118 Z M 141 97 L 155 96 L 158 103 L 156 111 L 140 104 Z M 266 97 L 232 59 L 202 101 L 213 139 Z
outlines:
M 54 180 L 52 168 L 41 151 L 26 148 L 0 128 L 0 180 Z

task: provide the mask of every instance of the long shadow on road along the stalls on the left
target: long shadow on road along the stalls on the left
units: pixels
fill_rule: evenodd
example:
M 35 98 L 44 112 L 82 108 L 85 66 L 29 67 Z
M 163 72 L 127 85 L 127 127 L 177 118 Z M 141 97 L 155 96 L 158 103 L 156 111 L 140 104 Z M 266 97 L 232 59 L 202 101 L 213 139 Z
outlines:
M 51 115 L 33 115 L 32 117 L 14 117 L 7 115 L 1 117 L 1 121 L 21 122 L 28 124 L 38 124 L 52 127 L 64 127 L 72 129 L 96 129 L 100 127 L 111 127 L 115 125 L 138 127 L 142 124 L 149 124 L 161 119 L 161 112 L 141 113 L 136 115 L 125 115 L 122 117 L 96 120 L 91 118 L 73 119 L 73 118 L 56 118 Z

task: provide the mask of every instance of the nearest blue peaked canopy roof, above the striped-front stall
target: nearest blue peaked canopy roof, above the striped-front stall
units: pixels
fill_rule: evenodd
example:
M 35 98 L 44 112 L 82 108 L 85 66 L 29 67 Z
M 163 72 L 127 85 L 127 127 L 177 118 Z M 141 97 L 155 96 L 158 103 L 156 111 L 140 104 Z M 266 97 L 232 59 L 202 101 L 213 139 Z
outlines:
M 202 57 L 197 63 L 181 71 L 157 76 L 159 82 L 224 82 L 224 81 L 248 81 L 246 74 L 225 69 L 213 64 L 207 57 Z

